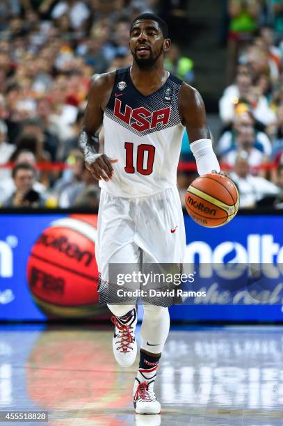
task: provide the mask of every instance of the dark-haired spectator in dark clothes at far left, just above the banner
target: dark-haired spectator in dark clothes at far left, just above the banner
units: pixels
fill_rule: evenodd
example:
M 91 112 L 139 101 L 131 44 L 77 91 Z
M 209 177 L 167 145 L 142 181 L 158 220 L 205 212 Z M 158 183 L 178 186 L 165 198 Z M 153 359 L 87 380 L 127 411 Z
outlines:
M 26 163 L 13 168 L 15 192 L 3 202 L 3 207 L 43 207 L 45 198 L 33 189 L 35 169 Z

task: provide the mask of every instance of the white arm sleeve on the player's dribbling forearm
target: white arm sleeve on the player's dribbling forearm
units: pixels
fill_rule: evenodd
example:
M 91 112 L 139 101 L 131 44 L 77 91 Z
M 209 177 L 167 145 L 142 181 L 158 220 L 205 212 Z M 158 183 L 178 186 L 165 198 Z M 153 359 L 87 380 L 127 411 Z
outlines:
M 220 172 L 218 159 L 212 149 L 211 139 L 199 139 L 190 144 L 190 148 L 197 163 L 198 174 L 205 175 L 216 170 Z

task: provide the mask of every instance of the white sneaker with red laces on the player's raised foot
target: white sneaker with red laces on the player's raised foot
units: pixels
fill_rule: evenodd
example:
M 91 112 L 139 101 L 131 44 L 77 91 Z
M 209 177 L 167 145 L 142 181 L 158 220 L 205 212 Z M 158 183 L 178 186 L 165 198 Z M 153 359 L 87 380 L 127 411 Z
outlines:
M 122 367 L 129 367 L 136 360 L 137 345 L 135 338 L 137 315 L 136 309 L 133 309 L 133 315 L 122 322 L 119 317 L 111 317 L 115 325 L 114 337 L 112 340 L 113 352 L 116 361 Z

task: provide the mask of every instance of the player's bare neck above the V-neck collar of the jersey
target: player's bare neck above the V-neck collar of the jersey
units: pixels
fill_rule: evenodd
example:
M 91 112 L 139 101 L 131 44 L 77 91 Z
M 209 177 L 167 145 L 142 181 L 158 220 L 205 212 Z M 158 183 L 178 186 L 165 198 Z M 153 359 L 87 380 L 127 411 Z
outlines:
M 145 90 L 158 88 L 168 79 L 168 72 L 164 70 L 163 63 L 156 63 L 152 68 L 142 69 L 135 62 L 130 70 L 131 80 L 137 88 Z

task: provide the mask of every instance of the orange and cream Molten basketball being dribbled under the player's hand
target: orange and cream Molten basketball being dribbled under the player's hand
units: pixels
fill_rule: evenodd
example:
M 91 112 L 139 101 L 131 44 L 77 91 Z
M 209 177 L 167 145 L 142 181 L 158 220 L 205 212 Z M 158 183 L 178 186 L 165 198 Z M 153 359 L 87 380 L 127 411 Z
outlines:
M 186 210 L 199 225 L 223 226 L 238 212 L 238 190 L 231 179 L 209 173 L 195 179 L 185 195 Z

